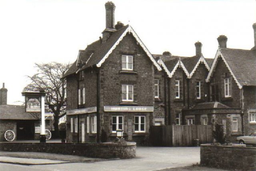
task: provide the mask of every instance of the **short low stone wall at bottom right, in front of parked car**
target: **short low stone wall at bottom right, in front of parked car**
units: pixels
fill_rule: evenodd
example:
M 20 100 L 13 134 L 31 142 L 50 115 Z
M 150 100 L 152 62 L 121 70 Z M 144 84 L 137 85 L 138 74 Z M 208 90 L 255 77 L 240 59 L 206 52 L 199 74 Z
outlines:
M 256 147 L 202 144 L 200 164 L 222 169 L 256 170 Z

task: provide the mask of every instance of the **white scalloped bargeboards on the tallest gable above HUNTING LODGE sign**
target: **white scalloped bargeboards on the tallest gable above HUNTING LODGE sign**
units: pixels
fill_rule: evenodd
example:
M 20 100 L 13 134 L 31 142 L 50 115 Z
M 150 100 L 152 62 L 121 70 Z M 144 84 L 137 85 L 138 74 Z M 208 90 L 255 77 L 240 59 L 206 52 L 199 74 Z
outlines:
M 114 43 L 114 45 L 108 50 L 108 52 L 106 53 L 106 55 L 104 55 L 104 57 L 96 64 L 97 67 L 100 67 L 102 65 L 102 63 L 104 63 L 104 61 L 108 58 L 108 56 L 112 53 L 112 51 L 116 48 L 116 46 L 120 43 L 120 41 L 122 41 L 122 39 L 124 38 L 124 36 L 127 33 L 132 33 L 133 37 L 136 39 L 136 41 L 140 44 L 140 46 L 142 47 L 142 49 L 146 52 L 146 54 L 148 55 L 148 57 L 150 58 L 150 60 L 153 62 L 153 64 L 155 65 L 155 67 L 158 69 L 158 71 L 162 71 L 162 68 L 158 65 L 158 63 L 156 62 L 156 60 L 154 59 L 154 57 L 152 56 L 152 54 L 150 53 L 150 51 L 147 49 L 147 47 L 144 45 L 144 43 L 140 40 L 140 38 L 138 37 L 138 35 L 136 34 L 136 32 L 134 31 L 134 29 L 128 25 L 128 27 L 126 28 L 126 30 L 122 33 L 122 35 L 118 38 L 118 40 Z

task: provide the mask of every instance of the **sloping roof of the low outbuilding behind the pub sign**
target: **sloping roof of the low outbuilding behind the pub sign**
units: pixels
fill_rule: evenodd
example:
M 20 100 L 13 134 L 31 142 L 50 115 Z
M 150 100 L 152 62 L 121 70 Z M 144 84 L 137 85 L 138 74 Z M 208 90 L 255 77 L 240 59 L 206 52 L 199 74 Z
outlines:
M 46 110 L 47 112 L 47 110 Z M 0 105 L 0 119 L 4 120 L 38 120 L 32 114 L 25 112 L 25 106 Z M 51 118 L 47 118 L 51 119 Z

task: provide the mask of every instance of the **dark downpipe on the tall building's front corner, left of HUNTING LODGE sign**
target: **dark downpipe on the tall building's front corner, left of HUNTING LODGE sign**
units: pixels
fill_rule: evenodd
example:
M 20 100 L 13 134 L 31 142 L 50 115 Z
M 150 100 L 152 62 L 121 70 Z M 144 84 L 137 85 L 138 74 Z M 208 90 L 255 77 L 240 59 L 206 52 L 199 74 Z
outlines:
M 98 68 L 97 74 L 97 143 L 100 142 L 100 68 Z

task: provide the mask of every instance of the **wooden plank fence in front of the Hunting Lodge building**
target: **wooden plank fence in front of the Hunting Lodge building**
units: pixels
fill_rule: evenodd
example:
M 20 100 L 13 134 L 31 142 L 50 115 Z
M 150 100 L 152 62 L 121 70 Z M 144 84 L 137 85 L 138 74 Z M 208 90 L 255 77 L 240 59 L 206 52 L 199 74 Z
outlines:
M 212 142 L 211 125 L 150 126 L 150 143 L 154 146 L 192 146 L 194 140 Z

